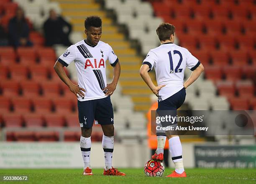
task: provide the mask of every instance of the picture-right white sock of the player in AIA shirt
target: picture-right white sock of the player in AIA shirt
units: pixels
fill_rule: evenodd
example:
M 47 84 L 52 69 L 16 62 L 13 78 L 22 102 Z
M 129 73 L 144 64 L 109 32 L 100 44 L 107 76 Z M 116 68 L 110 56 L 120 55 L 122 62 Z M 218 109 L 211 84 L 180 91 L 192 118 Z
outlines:
M 105 158 L 105 170 L 112 168 L 112 157 L 114 151 L 114 136 L 107 137 L 105 135 L 102 136 L 102 148 L 104 151 Z

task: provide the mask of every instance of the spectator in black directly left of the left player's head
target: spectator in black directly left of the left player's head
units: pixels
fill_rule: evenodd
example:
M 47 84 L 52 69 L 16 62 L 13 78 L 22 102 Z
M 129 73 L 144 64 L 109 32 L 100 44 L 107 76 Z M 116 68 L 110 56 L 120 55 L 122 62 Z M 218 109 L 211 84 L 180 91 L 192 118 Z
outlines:
M 70 46 L 69 34 L 72 31 L 72 25 L 65 21 L 61 16 L 58 16 L 55 10 L 50 10 L 50 17 L 44 23 L 44 36 L 46 46 L 54 44 L 62 44 Z

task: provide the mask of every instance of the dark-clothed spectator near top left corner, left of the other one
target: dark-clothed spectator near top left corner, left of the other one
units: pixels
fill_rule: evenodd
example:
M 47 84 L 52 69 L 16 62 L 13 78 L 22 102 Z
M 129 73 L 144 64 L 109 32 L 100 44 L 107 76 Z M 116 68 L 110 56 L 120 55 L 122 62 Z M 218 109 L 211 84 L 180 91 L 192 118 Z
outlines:
M 10 19 L 8 24 L 10 45 L 32 46 L 29 40 L 29 27 L 22 8 L 17 8 L 16 15 Z

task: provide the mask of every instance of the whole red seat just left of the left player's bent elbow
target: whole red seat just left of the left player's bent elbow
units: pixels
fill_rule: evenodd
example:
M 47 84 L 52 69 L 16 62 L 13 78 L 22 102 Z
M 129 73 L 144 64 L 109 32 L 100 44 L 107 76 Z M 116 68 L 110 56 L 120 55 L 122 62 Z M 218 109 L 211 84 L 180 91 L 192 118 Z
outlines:
M 46 81 L 48 79 L 48 68 L 41 65 L 29 66 L 31 72 L 31 78 L 33 81 Z

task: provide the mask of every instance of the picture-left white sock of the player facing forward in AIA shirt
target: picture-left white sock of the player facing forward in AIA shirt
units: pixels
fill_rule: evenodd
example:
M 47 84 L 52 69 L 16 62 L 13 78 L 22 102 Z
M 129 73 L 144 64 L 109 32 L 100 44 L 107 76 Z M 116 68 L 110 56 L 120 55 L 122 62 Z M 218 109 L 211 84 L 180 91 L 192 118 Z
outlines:
M 90 166 L 90 154 L 91 154 L 91 137 L 80 137 L 80 148 L 82 152 L 82 157 L 84 160 L 84 169 Z

